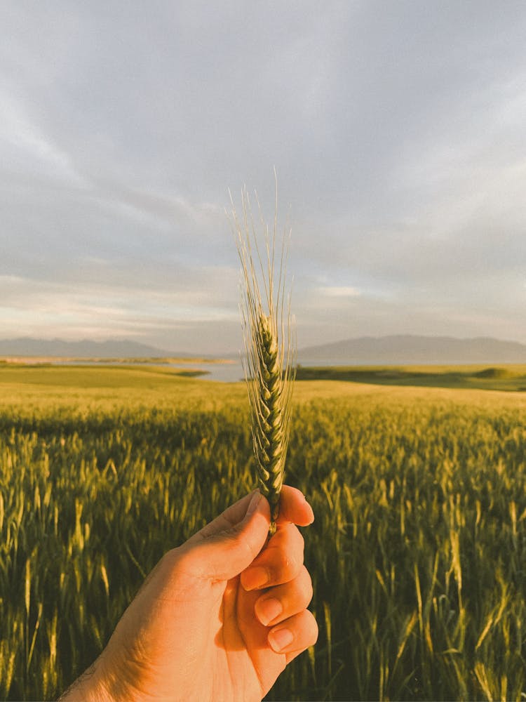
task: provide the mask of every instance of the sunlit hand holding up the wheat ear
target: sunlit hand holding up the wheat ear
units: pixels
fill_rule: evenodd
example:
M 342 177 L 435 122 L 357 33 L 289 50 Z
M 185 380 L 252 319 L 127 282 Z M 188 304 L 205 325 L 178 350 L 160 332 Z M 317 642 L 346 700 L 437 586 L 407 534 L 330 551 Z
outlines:
M 267 543 L 267 500 L 255 492 L 232 505 L 163 556 L 93 668 L 62 699 L 260 700 L 318 637 L 295 526 L 312 521 L 304 496 L 283 486 Z

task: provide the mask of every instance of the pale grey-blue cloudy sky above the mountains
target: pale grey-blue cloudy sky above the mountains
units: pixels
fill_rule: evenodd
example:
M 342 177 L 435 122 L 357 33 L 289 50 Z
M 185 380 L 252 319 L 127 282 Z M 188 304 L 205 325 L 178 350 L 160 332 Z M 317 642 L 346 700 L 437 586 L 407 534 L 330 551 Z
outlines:
M 246 186 L 272 222 L 276 169 L 299 348 L 526 343 L 522 0 L 17 0 L 0 26 L 0 338 L 240 349 L 225 208 Z

